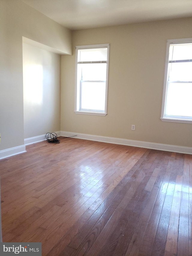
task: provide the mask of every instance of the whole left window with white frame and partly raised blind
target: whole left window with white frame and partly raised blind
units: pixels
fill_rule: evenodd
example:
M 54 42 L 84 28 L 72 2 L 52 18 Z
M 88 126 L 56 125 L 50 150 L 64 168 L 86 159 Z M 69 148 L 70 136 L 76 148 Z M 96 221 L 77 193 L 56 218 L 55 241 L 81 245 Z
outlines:
M 107 115 L 109 44 L 76 46 L 75 113 Z

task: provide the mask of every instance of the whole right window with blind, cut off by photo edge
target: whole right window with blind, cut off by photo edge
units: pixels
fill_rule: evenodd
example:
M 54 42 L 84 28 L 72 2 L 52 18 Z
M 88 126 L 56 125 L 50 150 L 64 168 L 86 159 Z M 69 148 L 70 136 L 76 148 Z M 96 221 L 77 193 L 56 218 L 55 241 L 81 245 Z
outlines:
M 167 41 L 161 120 L 192 123 L 192 38 Z

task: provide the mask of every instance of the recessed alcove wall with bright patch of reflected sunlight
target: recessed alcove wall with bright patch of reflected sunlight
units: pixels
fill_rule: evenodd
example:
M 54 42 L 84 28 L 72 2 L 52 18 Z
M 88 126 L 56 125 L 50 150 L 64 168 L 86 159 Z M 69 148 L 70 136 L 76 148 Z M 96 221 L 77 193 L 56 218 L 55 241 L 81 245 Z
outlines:
M 60 131 L 60 78 L 60 55 L 23 43 L 25 139 Z

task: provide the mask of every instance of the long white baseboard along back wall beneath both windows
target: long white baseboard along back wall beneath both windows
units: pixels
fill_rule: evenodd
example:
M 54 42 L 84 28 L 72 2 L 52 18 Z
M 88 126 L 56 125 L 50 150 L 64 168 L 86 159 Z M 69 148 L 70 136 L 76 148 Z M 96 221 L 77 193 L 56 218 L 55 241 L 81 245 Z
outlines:
M 119 144 L 119 145 L 134 146 L 134 147 L 147 148 L 147 149 L 157 149 L 157 150 L 192 155 L 192 148 L 188 148 L 188 147 L 151 143 L 151 142 L 144 142 L 144 141 L 137 141 L 137 140 L 126 140 L 126 139 L 119 139 L 119 138 L 103 137 L 103 136 L 96 136 L 96 135 L 89 135 L 89 134 L 80 134 L 80 133 L 66 132 L 66 131 L 60 132 L 60 136 L 64 136 L 64 137 L 69 137 L 74 135 L 76 135 L 74 138 L 77 138 L 77 139 L 93 140 L 93 141 L 100 141 L 100 142 L 113 143 L 113 144 Z

